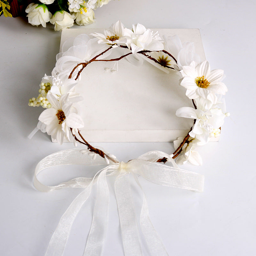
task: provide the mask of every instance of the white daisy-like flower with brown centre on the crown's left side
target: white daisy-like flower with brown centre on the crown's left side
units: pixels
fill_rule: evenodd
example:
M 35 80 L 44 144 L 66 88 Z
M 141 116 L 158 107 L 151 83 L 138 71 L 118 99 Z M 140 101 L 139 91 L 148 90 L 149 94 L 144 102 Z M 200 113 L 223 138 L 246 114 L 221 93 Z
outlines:
M 39 116 L 38 120 L 44 125 L 48 135 L 56 139 L 60 144 L 66 138 L 69 139 L 70 128 L 80 129 L 84 127 L 84 122 L 77 113 L 76 108 L 68 101 L 68 94 L 64 94 L 57 100 L 51 93 L 47 95 L 52 108 L 44 110 Z

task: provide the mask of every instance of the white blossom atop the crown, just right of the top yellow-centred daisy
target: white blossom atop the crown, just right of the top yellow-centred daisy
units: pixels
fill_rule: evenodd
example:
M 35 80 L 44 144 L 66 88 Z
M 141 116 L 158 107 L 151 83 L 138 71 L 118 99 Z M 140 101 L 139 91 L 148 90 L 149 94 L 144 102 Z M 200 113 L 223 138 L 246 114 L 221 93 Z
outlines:
M 124 36 L 129 36 L 131 40 L 127 41 L 128 47 L 131 47 L 132 53 L 142 50 L 161 51 L 164 44 L 159 34 L 153 33 L 150 29 L 146 29 L 141 24 L 133 24 L 132 30 L 125 28 Z

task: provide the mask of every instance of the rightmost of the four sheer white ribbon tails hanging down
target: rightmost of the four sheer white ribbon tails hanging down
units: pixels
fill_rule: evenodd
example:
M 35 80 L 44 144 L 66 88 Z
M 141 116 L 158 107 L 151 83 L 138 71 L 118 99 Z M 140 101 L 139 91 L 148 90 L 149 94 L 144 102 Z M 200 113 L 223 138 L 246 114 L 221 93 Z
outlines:
M 149 252 L 152 256 L 168 256 L 164 244 L 159 235 L 157 234 L 156 229 L 154 228 L 149 218 L 148 202 L 144 190 L 141 187 L 140 182 L 134 173 L 133 177 L 143 192 L 143 203 L 140 212 L 140 228 L 148 244 Z

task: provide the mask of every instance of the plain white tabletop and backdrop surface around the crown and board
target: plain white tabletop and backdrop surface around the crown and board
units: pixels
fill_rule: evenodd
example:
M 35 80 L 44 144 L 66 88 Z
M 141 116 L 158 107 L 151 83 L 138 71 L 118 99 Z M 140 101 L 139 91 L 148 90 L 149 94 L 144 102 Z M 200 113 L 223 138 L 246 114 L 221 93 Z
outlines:
M 116 0 L 96 10 L 96 22 L 90 25 L 104 28 L 120 19 L 127 27 L 139 22 L 148 28 L 199 28 L 211 68 L 224 69 L 227 76 L 225 99 L 231 118 L 222 127 L 220 141 L 200 148 L 203 166 L 182 167 L 205 175 L 204 192 L 161 187 L 140 179 L 151 220 L 170 255 L 256 255 L 255 11 L 254 1 Z M 43 157 L 73 148 L 72 143 L 52 143 L 40 132 L 32 140 L 27 138 L 42 111 L 28 107 L 28 99 L 37 94 L 44 73 L 51 73 L 61 34 L 52 26 L 28 25 L 24 18 L 1 16 L 0 21 L 0 255 L 41 256 L 62 213 L 81 191 L 41 193 L 32 185 L 34 168 Z M 172 143 L 94 145 L 123 161 L 154 149 L 173 151 Z M 57 179 L 62 173 L 63 178 Z M 47 177 L 54 184 L 83 174 L 81 167 L 72 172 L 59 168 Z M 109 187 L 103 255 L 123 255 L 113 180 Z M 139 212 L 141 192 L 135 186 L 133 191 Z M 93 191 L 74 223 L 65 255 L 82 255 L 94 200 Z

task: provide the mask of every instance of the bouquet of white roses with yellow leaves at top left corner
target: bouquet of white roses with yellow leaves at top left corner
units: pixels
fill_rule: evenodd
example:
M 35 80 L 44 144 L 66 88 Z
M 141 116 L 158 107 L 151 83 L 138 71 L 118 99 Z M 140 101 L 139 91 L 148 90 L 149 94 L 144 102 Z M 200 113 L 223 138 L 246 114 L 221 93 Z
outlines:
M 19 3 L 17 2 L 19 1 Z M 39 0 L 31 3 L 29 0 L 0 1 L 0 16 L 16 17 L 20 15 L 20 7 L 14 6 L 22 4 L 27 6 L 28 22 L 33 26 L 42 25 L 46 27 L 47 22 L 54 24 L 54 29 L 60 31 L 70 28 L 74 22 L 78 25 L 89 25 L 94 22 L 94 10 L 108 4 L 111 0 Z M 9 4 L 17 2 L 14 4 Z M 10 12 L 9 12 L 10 11 Z

